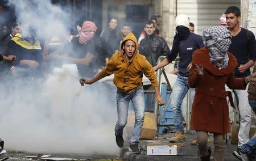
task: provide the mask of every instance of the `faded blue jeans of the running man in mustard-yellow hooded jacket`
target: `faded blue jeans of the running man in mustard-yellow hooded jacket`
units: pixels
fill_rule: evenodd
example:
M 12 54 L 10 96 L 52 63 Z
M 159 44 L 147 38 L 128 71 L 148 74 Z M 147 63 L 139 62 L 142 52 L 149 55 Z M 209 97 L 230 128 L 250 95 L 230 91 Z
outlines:
M 131 137 L 130 143 L 136 144 L 139 142 L 139 135 L 141 135 L 141 128 L 144 121 L 144 91 L 143 87 L 139 87 L 136 90 L 123 94 L 117 90 L 117 124 L 115 125 L 115 134 L 120 135 L 123 133 L 123 128 L 127 124 L 129 103 L 133 103 L 135 113 L 135 123 L 133 129 L 133 137 Z

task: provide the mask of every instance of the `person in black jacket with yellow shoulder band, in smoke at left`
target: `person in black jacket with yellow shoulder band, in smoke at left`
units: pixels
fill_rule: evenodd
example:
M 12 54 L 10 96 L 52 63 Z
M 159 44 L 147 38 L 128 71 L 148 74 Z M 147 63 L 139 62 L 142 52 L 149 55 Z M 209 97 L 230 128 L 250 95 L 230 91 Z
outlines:
M 40 42 L 36 39 L 36 29 L 28 28 L 26 36 L 21 33 L 11 39 L 7 53 L 16 56 L 13 66 L 16 76 L 22 78 L 43 77 L 44 65 Z

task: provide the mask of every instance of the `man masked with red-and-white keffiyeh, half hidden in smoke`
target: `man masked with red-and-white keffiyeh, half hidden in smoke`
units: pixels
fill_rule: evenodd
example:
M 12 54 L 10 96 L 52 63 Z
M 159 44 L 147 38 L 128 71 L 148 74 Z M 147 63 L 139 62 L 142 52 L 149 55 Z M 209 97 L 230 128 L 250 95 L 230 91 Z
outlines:
M 94 22 L 85 21 L 82 27 L 77 26 L 77 31 L 79 34 L 69 36 L 70 44 L 64 46 L 68 54 L 57 54 L 56 58 L 63 62 L 76 63 L 81 76 L 92 77 L 97 67 L 105 66 L 105 58 L 112 53 L 109 52 L 105 40 L 96 39 L 97 27 Z

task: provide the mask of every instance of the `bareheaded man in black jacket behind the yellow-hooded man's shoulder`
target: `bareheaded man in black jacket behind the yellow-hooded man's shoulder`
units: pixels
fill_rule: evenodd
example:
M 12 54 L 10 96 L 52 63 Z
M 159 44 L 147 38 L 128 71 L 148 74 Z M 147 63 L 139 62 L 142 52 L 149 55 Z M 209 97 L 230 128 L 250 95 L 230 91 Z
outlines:
M 146 37 L 141 40 L 139 53 L 145 56 L 152 66 L 155 66 L 158 57 L 167 56 L 170 48 L 163 37 L 156 35 L 155 24 L 152 20 L 146 22 L 144 30 L 146 31 Z

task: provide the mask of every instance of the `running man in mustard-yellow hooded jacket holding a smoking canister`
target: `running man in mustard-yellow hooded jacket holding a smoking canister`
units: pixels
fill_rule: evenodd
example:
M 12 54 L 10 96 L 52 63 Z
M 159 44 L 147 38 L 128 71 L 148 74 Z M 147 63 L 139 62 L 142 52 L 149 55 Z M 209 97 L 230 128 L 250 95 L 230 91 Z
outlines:
M 122 41 L 120 50 L 113 54 L 105 69 L 92 79 L 81 78 L 80 83 L 92 84 L 114 73 L 114 84 L 117 86 L 117 115 L 115 125 L 115 141 L 123 147 L 123 128 L 127 123 L 130 100 L 135 111 L 133 137 L 130 140 L 129 150 L 139 154 L 139 135 L 144 121 L 144 92 L 142 87 L 143 74 L 150 79 L 155 89 L 155 99 L 159 105 L 164 104 L 158 89 L 158 79 L 155 71 L 146 57 L 138 53 L 138 43 L 133 33 L 129 33 Z

